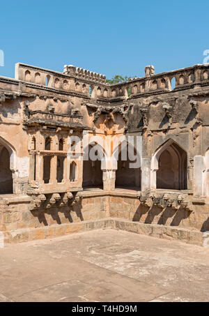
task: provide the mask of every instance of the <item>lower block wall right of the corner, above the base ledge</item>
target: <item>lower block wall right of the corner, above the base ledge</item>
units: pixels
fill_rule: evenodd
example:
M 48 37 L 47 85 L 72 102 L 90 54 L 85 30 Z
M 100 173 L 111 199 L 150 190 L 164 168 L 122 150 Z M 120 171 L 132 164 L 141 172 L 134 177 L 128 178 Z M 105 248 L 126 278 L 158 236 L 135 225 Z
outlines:
M 209 204 L 194 204 L 194 211 L 144 206 L 137 197 L 110 197 L 110 216 L 144 224 L 187 227 L 201 232 L 209 230 Z

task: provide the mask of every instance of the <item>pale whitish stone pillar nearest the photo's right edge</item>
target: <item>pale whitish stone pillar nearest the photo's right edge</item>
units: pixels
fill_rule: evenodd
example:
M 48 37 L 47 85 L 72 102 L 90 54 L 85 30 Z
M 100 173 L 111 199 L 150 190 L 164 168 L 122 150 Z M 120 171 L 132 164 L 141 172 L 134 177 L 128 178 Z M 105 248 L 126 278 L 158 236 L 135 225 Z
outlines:
M 203 157 L 194 156 L 194 196 L 199 197 L 203 195 Z

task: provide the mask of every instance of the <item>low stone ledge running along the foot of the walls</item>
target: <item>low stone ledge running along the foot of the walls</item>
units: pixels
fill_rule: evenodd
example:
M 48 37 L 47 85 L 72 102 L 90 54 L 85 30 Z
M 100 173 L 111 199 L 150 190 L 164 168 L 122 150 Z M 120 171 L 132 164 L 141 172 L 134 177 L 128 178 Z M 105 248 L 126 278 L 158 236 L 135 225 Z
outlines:
M 144 234 L 155 238 L 167 240 L 179 240 L 198 246 L 209 246 L 207 239 L 209 233 L 199 232 L 198 230 L 183 227 L 171 227 L 157 224 L 144 224 L 123 220 L 118 218 L 104 218 L 102 220 L 86 220 L 79 223 L 69 223 L 61 225 L 51 225 L 38 228 L 26 228 L 3 232 L 5 243 L 21 243 L 38 239 L 49 239 L 66 234 L 77 232 L 87 232 L 89 230 L 99 230 L 112 228 L 115 230 L 125 230 L 137 234 Z

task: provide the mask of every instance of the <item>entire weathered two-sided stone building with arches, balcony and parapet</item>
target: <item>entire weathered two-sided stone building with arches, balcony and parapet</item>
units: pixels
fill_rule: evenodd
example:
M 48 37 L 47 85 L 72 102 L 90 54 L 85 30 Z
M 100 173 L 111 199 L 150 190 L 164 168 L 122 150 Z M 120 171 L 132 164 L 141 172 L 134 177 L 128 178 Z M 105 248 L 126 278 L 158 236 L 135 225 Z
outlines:
M 17 63 L 15 79 L 0 77 L 4 240 L 112 227 L 203 245 L 208 101 L 208 64 L 157 75 L 146 66 L 145 77 L 109 85 L 71 65 Z

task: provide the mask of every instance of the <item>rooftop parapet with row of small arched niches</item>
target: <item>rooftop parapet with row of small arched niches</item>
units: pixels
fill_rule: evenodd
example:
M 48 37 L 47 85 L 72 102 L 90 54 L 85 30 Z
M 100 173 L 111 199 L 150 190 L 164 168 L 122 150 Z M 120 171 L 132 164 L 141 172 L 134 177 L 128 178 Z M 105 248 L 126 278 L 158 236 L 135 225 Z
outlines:
M 127 82 L 107 84 L 105 75 L 65 65 L 63 73 L 17 63 L 15 79 L 20 84 L 38 88 L 47 86 L 50 89 L 74 91 L 88 98 L 116 100 L 137 98 L 144 94 L 160 94 L 169 91 L 191 89 L 194 86 L 209 85 L 209 65 L 195 65 L 188 68 L 155 74 L 154 66 L 146 66 L 145 77 L 134 77 Z M 173 86 L 175 81 L 175 86 Z M 36 84 L 36 85 L 34 85 Z

